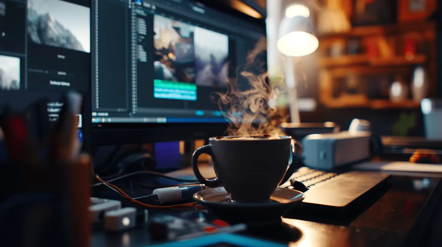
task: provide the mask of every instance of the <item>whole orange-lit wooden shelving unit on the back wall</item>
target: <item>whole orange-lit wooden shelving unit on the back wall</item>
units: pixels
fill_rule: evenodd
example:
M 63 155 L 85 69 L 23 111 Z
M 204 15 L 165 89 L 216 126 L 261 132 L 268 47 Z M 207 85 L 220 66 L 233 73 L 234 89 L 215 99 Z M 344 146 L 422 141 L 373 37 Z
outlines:
M 419 102 L 407 99 L 402 102 L 392 102 L 387 99 L 370 99 L 361 92 L 350 94 L 341 92 L 336 96 L 336 83 L 341 83 L 349 74 L 360 76 L 401 76 L 410 82 L 416 66 L 423 66 L 430 82 L 430 94 L 436 86 L 437 57 L 435 44 L 434 22 L 412 22 L 388 26 L 363 26 L 355 27 L 348 33 L 320 35 L 319 60 L 320 68 L 320 100 L 329 108 L 370 108 L 370 109 L 416 109 Z M 412 38 L 419 44 L 419 51 L 414 54 L 404 55 L 404 40 Z M 328 56 L 329 48 L 335 44 L 345 44 L 351 40 L 358 40 L 364 52 L 359 54 L 342 54 L 341 56 Z M 384 41 L 387 50 L 381 52 L 379 40 Z M 368 44 L 378 45 L 378 56 L 370 56 L 365 52 Z M 424 44 L 424 45 L 422 45 Z M 346 49 L 347 50 L 347 47 Z M 384 53 L 383 53 L 384 52 Z M 389 55 L 391 54 L 391 55 Z M 391 77 L 394 77 L 391 76 Z M 371 80 L 369 80 L 372 82 Z M 366 83 L 370 83 L 366 82 Z M 391 82 L 390 82 L 391 83 Z M 370 85 L 366 85 L 368 87 Z M 342 90 L 342 89 L 340 89 Z M 410 90 L 409 90 L 410 91 Z M 335 95 L 335 96 L 334 96 Z M 384 96 L 385 97 L 385 96 Z

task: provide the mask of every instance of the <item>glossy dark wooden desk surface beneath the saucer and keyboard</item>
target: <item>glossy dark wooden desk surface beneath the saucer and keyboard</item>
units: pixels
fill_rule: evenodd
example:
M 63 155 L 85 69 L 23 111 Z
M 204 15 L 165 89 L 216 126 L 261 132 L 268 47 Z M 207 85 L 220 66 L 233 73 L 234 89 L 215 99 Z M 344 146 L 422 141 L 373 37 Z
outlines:
M 395 247 L 425 243 L 427 226 L 442 194 L 440 180 L 438 177 L 393 176 L 391 187 L 384 193 L 374 196 L 371 202 L 364 202 L 365 207 L 345 214 L 295 209 L 283 218 L 283 222 L 302 232 L 301 238 L 290 246 Z M 191 218 L 198 217 L 198 213 L 192 210 L 174 214 Z M 278 237 L 273 240 L 288 241 Z M 96 231 L 91 246 L 143 247 L 150 244 L 147 229 L 137 228 L 119 234 Z

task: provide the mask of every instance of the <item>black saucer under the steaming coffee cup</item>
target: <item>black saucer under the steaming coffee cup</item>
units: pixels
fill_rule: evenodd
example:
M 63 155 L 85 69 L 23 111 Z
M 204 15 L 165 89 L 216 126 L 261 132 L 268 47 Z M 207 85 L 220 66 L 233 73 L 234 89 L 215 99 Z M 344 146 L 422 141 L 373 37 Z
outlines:
M 253 190 L 253 188 L 250 188 Z M 224 187 L 211 188 L 194 194 L 194 200 L 231 224 L 267 225 L 281 221 L 281 217 L 305 198 L 302 192 L 276 188 L 268 203 L 232 203 Z

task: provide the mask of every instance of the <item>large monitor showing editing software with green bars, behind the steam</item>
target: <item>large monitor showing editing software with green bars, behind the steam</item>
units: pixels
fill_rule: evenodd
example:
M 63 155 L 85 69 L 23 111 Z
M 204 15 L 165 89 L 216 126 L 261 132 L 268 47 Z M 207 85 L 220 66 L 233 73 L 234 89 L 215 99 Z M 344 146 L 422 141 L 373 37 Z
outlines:
M 192 0 L 94 0 L 92 16 L 94 145 L 224 133 L 210 94 L 245 64 L 264 19 Z

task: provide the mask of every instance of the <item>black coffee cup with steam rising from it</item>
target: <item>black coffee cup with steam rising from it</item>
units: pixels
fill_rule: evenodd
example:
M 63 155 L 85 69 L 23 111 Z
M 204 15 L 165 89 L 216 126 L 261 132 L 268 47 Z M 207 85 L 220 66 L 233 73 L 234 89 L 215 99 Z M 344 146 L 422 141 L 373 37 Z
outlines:
M 200 183 L 208 187 L 223 185 L 232 202 L 270 202 L 270 196 L 281 183 L 291 165 L 291 137 L 257 135 L 248 137 L 212 137 L 209 145 L 195 150 L 192 168 Z M 198 157 L 212 157 L 217 177 L 204 178 L 198 170 Z

